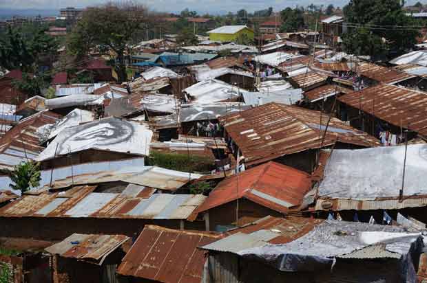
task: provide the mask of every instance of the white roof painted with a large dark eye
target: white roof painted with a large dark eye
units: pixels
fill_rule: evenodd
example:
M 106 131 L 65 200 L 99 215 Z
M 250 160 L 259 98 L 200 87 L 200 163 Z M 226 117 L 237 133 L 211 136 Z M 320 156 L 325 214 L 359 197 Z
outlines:
M 41 152 L 37 161 L 88 149 L 149 155 L 152 135 L 152 131 L 146 125 L 108 117 L 61 131 Z

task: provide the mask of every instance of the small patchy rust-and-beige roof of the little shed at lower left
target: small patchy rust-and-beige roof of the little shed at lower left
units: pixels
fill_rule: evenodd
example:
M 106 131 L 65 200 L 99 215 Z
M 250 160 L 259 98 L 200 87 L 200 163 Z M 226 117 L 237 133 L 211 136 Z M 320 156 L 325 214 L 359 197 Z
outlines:
M 72 234 L 62 242 L 45 248 L 45 251 L 101 265 L 110 253 L 127 240 L 129 237 L 123 235 Z

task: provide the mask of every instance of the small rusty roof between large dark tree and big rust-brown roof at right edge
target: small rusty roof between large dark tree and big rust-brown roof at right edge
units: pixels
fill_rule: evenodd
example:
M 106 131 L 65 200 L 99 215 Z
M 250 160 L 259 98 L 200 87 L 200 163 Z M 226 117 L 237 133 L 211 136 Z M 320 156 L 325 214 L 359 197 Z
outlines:
M 415 76 L 408 73 L 371 63 L 361 63 L 357 66 L 357 71 L 359 71 L 362 76 L 370 78 L 371 80 L 390 84 L 395 84 L 410 78 L 415 78 Z

